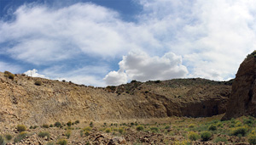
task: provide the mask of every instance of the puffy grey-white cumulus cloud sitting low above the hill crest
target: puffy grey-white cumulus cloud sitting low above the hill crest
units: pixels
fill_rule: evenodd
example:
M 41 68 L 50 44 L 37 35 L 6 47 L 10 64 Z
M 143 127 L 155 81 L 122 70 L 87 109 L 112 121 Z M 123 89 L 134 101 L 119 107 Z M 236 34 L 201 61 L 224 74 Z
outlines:
M 104 80 L 108 85 L 119 85 L 130 80 L 168 80 L 185 77 L 187 68 L 182 64 L 182 57 L 166 53 L 162 57 L 150 57 L 143 51 L 131 51 L 119 62 L 119 71 L 111 71 Z

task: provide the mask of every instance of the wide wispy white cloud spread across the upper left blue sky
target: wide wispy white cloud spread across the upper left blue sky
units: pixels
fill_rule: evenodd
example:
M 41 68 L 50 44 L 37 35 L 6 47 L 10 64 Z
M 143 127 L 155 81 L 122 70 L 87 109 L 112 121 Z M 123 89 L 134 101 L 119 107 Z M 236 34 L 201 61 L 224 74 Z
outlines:
M 31 64 L 72 59 L 81 53 L 113 58 L 131 48 L 159 45 L 143 25 L 122 21 L 117 12 L 92 3 L 65 8 L 25 4 L 14 15 L 13 21 L 0 21 L 0 43 L 11 42 L 6 53 Z

